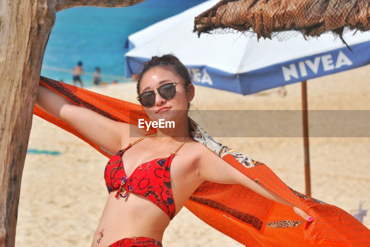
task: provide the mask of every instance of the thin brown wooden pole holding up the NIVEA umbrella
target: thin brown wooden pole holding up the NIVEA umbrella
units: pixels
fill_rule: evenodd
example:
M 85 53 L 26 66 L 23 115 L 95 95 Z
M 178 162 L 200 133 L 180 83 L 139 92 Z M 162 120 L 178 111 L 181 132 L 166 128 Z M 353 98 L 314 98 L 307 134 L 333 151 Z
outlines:
M 310 176 L 310 148 L 308 142 L 308 114 L 307 114 L 307 81 L 301 83 L 302 88 L 302 120 L 303 120 L 303 146 L 305 152 L 305 183 L 306 195 L 311 196 L 311 176 Z

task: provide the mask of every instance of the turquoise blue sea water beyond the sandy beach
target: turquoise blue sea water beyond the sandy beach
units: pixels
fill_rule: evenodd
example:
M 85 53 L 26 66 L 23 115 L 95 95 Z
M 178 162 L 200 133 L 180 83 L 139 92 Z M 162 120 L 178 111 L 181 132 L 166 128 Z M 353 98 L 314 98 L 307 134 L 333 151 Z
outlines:
M 74 7 L 57 12 L 46 47 L 41 75 L 72 84 L 68 72 L 83 62 L 84 87 L 100 67 L 102 81 L 124 81 L 127 37 L 204 0 L 146 0 L 129 7 Z M 200 13 L 199 13 L 200 14 Z M 194 16 L 195 17 L 195 16 Z M 80 84 L 77 84 L 80 86 Z

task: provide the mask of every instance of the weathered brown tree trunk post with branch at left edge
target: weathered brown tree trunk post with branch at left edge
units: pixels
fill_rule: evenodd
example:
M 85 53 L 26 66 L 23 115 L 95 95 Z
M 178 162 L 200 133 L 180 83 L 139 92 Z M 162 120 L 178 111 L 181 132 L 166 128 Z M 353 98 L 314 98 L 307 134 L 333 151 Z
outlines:
M 55 11 L 144 0 L 0 0 L 0 247 L 14 246 L 20 185 Z

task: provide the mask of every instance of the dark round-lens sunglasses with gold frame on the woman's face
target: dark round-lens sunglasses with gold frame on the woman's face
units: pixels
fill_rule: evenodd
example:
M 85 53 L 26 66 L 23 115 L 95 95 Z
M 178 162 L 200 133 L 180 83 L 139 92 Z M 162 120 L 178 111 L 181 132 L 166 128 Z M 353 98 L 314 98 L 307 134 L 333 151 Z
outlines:
M 176 94 L 176 85 L 185 84 L 186 82 L 170 82 L 164 83 L 159 86 L 157 89 L 158 94 L 163 99 L 172 99 Z M 136 99 L 141 103 L 142 106 L 152 107 L 155 104 L 155 92 L 154 90 L 149 90 L 141 93 Z

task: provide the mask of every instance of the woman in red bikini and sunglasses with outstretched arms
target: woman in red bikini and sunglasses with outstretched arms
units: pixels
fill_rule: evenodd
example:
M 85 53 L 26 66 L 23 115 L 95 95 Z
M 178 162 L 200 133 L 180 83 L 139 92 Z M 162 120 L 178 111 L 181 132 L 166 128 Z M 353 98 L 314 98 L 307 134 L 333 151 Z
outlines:
M 105 118 L 43 86 L 37 93 L 40 109 L 116 154 L 105 169 L 110 194 L 91 246 L 161 246 L 170 220 L 204 181 L 244 185 L 293 207 L 303 220 L 313 220 L 189 138 L 188 109 L 195 89 L 188 70 L 175 56 L 152 57 L 137 82 L 138 100 L 149 118 L 174 121 L 174 127 L 157 128 L 157 135 L 147 135 L 146 128 Z

